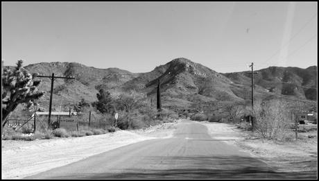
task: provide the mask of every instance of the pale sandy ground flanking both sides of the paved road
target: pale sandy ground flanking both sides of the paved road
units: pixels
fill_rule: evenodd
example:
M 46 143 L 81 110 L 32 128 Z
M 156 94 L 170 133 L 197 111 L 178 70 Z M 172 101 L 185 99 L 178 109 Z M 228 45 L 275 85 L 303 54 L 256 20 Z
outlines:
M 24 178 L 71 162 L 83 160 L 107 150 L 137 143 L 147 139 L 173 136 L 178 123 L 121 130 L 105 135 L 41 139 L 35 141 L 1 141 L 1 178 Z M 298 133 L 300 139 L 276 142 L 256 139 L 252 132 L 243 131 L 232 124 L 191 121 L 207 126 L 209 134 L 227 144 L 239 146 L 252 157 L 266 162 L 281 172 L 317 171 L 317 130 Z M 308 135 L 314 137 L 308 138 Z

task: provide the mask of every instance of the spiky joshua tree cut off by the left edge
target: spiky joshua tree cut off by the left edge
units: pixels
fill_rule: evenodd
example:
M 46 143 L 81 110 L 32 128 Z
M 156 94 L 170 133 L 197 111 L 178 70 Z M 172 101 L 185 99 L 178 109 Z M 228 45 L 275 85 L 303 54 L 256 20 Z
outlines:
M 34 76 L 22 67 L 22 63 L 22 60 L 18 60 L 14 70 L 7 67 L 2 74 L 2 103 L 5 105 L 2 106 L 2 126 L 6 125 L 7 117 L 17 105 L 26 103 L 30 107 L 33 101 L 44 94 L 37 89 L 41 81 L 33 80 Z

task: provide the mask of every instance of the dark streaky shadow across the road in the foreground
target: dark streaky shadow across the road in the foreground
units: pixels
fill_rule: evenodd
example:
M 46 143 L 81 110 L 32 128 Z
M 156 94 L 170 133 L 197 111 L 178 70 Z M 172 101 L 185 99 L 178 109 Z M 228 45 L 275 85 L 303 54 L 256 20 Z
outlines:
M 158 160 L 162 160 L 158 163 Z M 155 162 L 156 161 L 156 162 Z M 316 172 L 276 172 L 252 157 L 148 157 L 149 168 L 113 168 L 105 173 L 81 173 L 56 178 L 78 179 L 316 179 Z M 158 164 L 158 168 L 150 169 Z M 163 169 L 161 169 L 161 166 Z M 170 169 L 164 169 L 170 168 Z

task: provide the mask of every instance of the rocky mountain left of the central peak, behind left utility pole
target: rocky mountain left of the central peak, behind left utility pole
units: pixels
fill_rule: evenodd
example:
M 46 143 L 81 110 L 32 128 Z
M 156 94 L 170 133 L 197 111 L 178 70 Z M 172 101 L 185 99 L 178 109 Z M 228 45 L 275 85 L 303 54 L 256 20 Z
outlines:
M 55 79 L 53 89 L 53 108 L 55 110 L 65 110 L 67 107 L 78 103 L 81 98 L 84 98 L 87 102 L 96 101 L 98 89 L 116 89 L 128 80 L 139 76 L 139 74 L 122 69 L 98 69 L 76 62 L 42 62 L 29 64 L 24 68 L 31 73 L 46 76 L 51 76 L 54 73 L 55 76 L 75 77 L 75 80 Z M 46 91 L 47 94 L 40 98 L 39 103 L 40 105 L 49 105 L 51 80 L 49 78 L 41 79 L 42 83 L 39 89 Z

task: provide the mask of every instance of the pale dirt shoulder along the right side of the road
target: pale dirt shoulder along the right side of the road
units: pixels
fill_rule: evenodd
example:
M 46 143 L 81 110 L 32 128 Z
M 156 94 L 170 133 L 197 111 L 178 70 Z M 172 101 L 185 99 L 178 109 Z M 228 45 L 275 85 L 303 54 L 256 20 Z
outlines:
M 254 133 L 241 130 L 232 124 L 200 122 L 207 126 L 214 139 L 239 146 L 252 157 L 266 162 L 279 173 L 313 173 L 318 171 L 317 130 L 299 132 L 298 140 L 273 141 L 258 139 Z

